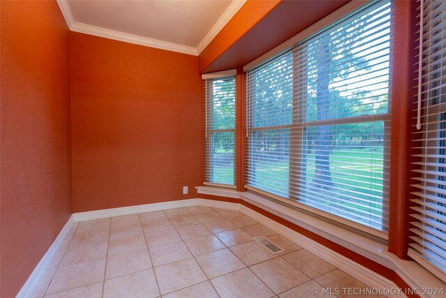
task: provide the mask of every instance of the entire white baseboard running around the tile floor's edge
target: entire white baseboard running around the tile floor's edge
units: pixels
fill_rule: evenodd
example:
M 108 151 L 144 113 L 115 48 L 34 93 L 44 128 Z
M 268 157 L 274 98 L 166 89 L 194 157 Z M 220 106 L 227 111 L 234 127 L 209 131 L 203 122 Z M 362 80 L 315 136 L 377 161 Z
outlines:
M 20 290 L 17 297 L 20 298 L 31 297 L 33 291 L 36 289 L 36 286 L 40 282 L 40 279 L 43 277 L 43 274 L 45 274 L 45 271 L 49 267 L 49 264 L 52 262 L 52 259 L 54 258 L 57 248 L 59 248 L 61 242 L 67 236 L 68 230 L 70 230 L 70 227 L 72 226 L 73 223 L 79 221 L 89 221 L 99 218 L 109 218 L 114 216 L 139 214 L 150 211 L 160 211 L 160 210 L 175 209 L 180 207 L 192 207 L 197 205 L 240 211 L 243 214 L 246 214 L 247 216 L 258 221 L 259 223 L 266 225 L 266 227 L 270 228 L 271 230 L 274 230 L 278 234 L 282 234 L 282 236 L 295 242 L 295 244 L 298 244 L 302 248 L 311 251 L 319 258 L 327 262 L 330 262 L 330 264 L 334 265 L 335 267 L 338 267 L 342 271 L 345 271 L 347 274 L 355 276 L 357 280 L 361 281 L 366 285 L 369 285 L 371 288 L 380 288 L 383 290 L 398 288 L 398 286 L 395 283 L 389 281 L 387 278 L 384 278 L 383 276 L 380 276 L 376 272 L 371 271 L 370 269 L 367 269 L 366 267 L 359 265 L 356 262 L 353 262 L 352 260 L 344 257 L 343 255 L 340 255 L 339 253 L 336 253 L 330 250 L 329 248 L 326 248 L 325 246 L 318 244 L 316 241 L 313 241 L 312 239 L 309 239 L 299 234 L 298 232 L 286 228 L 284 225 L 281 225 L 276 221 L 272 221 L 270 218 L 263 216 L 262 214 L 259 214 L 258 212 L 249 209 L 248 207 L 245 207 L 242 204 L 196 198 L 188 200 L 144 204 L 131 207 L 102 209 L 97 211 L 87 211 L 87 212 L 72 214 L 70 219 L 67 221 L 66 225 L 59 233 L 59 236 L 56 238 L 56 240 L 54 240 L 52 246 L 48 249 L 47 253 L 45 253 L 42 260 L 40 260 L 40 262 L 38 263 L 36 269 L 34 269 L 31 276 L 29 276 L 28 281 L 26 281 L 26 283 L 22 287 L 22 290 Z M 401 295 L 393 295 L 393 296 L 390 295 L 389 297 L 406 297 L 406 295 L 403 295 L 403 293 L 401 292 Z

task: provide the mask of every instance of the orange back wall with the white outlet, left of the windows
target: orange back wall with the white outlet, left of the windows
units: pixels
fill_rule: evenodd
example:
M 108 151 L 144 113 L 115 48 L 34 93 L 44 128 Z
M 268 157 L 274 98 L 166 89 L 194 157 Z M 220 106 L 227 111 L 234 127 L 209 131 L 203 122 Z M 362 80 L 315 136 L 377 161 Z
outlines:
M 75 32 L 70 56 L 73 211 L 197 198 L 198 57 Z

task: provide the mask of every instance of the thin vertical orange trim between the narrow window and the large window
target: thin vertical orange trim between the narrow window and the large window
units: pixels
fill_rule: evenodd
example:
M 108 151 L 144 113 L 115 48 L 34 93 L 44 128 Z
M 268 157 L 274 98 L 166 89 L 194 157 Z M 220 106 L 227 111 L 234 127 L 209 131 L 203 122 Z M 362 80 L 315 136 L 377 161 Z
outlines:
M 245 135 L 245 73 L 243 68 L 237 70 L 237 191 L 246 191 L 245 189 L 245 162 L 246 162 L 246 135 Z

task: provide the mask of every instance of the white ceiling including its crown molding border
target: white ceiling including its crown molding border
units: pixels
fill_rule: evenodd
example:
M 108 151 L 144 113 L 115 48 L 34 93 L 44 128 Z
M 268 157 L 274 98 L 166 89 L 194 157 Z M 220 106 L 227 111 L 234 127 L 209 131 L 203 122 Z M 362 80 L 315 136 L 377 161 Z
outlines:
M 72 31 L 199 54 L 246 0 L 58 0 Z

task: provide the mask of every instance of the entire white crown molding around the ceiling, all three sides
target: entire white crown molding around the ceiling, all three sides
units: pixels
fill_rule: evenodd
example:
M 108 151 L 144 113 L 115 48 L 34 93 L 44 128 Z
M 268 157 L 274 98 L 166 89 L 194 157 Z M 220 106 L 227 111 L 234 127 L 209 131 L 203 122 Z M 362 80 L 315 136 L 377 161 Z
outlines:
M 169 43 L 163 40 L 157 40 L 154 38 L 148 38 L 144 36 L 138 36 L 130 33 L 116 31 L 112 29 L 93 26 L 90 24 L 84 24 L 76 22 L 72 15 L 70 5 L 66 0 L 57 0 L 57 4 L 61 9 L 62 15 L 68 25 L 70 31 L 85 33 L 93 36 L 99 36 L 103 38 L 109 38 L 113 40 L 123 41 L 125 43 L 134 43 L 136 45 L 144 45 L 146 47 L 155 47 L 161 50 L 167 50 L 172 52 L 179 52 L 183 54 L 190 54 L 198 56 L 208 46 L 210 41 L 217 36 L 223 27 L 231 20 L 231 18 L 238 12 L 238 10 L 245 4 L 247 0 L 233 0 L 231 4 L 224 10 L 224 13 L 219 17 L 213 27 L 206 33 L 206 36 L 200 41 L 197 47 L 190 47 L 187 45 L 180 45 L 178 43 Z

